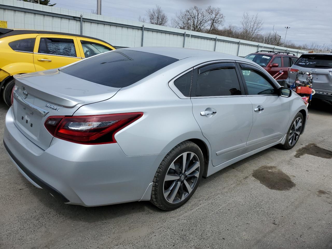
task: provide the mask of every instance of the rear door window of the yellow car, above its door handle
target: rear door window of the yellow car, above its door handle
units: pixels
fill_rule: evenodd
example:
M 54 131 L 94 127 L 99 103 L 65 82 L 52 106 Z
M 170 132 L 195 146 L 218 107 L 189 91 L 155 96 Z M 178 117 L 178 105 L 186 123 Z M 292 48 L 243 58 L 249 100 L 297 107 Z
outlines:
M 74 40 L 61 38 L 41 38 L 39 53 L 76 57 Z

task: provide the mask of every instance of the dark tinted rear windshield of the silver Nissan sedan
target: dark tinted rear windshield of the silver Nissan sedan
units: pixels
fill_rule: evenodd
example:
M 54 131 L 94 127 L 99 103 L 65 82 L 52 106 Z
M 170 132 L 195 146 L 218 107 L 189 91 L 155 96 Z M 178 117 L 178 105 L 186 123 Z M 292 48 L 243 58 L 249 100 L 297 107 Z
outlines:
M 126 87 L 178 59 L 133 50 L 114 50 L 84 59 L 61 72 L 111 87 Z

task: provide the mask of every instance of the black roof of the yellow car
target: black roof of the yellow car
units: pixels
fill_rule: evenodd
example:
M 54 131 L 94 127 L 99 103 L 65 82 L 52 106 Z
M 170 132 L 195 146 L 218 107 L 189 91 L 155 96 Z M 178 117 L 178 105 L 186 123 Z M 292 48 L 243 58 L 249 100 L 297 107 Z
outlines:
M 43 31 L 43 30 L 25 30 L 25 29 L 2 29 L 0 28 L 0 38 L 8 37 L 8 36 L 16 36 L 16 35 L 24 35 L 24 34 L 50 34 L 50 35 L 62 35 L 62 36 L 75 36 L 75 37 L 82 37 L 82 38 L 88 38 L 93 39 L 96 41 L 101 41 L 106 44 L 111 45 L 110 43 L 103 41 L 98 38 L 90 37 L 90 36 L 82 36 L 82 35 L 76 35 L 76 34 L 69 34 L 69 33 L 63 33 L 63 32 L 53 32 L 53 31 Z M 114 46 L 113 46 L 114 47 Z

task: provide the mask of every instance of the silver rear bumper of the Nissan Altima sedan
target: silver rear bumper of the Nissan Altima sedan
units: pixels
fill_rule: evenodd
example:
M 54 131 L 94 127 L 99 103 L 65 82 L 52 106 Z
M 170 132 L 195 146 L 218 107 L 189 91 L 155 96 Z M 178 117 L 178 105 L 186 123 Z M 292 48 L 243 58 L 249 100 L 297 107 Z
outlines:
M 4 144 L 19 171 L 61 202 L 101 206 L 149 200 L 165 154 L 126 156 L 117 143 L 84 145 L 53 138 L 42 150 L 6 115 Z

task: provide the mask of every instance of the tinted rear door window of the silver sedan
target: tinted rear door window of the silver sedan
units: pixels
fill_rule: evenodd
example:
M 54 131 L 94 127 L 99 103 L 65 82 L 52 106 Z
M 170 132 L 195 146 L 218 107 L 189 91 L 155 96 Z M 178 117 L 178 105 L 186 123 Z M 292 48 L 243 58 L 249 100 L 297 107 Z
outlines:
M 217 68 L 198 75 L 196 96 L 228 95 L 241 95 L 235 68 Z

